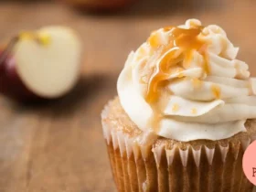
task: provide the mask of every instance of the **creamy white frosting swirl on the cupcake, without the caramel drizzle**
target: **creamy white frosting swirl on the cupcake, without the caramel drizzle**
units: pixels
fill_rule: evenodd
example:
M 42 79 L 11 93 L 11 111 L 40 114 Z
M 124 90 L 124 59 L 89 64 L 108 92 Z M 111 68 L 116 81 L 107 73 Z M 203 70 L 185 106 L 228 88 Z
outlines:
M 195 26 L 201 26 L 200 21 L 189 19 L 180 27 Z M 168 44 L 170 31 L 161 28 L 154 34 L 159 45 Z M 199 50 L 193 50 L 189 62 L 178 60 L 177 51 L 177 65 L 171 67 L 155 102 L 146 95 L 164 56 L 148 42 L 129 55 L 117 90 L 124 111 L 141 130 L 184 142 L 220 140 L 246 132 L 246 120 L 256 118 L 256 79 L 250 78 L 248 65 L 236 59 L 239 48 L 214 25 L 204 27 L 198 38 L 207 44 L 208 69 Z

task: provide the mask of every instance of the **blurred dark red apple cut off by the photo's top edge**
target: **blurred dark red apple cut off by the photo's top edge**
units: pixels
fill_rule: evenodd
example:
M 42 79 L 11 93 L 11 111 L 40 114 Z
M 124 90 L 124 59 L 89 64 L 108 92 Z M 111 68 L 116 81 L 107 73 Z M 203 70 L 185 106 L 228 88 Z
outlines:
M 59 0 L 80 10 L 112 11 L 133 4 L 135 0 Z

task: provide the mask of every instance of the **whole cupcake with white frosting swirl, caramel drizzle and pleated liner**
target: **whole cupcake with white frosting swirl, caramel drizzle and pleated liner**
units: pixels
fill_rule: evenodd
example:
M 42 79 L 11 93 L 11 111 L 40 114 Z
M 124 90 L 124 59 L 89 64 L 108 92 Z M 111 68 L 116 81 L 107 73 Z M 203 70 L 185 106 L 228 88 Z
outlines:
M 256 79 L 225 31 L 197 19 L 131 52 L 101 113 L 118 191 L 251 192 Z

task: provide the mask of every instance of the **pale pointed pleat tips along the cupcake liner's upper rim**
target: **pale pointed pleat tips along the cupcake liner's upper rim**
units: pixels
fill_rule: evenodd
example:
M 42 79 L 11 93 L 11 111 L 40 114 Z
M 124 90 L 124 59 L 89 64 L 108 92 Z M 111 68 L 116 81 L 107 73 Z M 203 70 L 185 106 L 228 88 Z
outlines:
M 129 138 L 128 135 L 123 134 L 121 131 L 117 131 L 117 132 L 111 131 L 112 129 L 109 128 L 107 124 L 103 123 L 102 126 L 103 126 L 104 137 L 107 141 L 107 144 L 110 144 L 111 141 L 112 141 L 114 149 L 119 148 L 122 156 L 123 156 L 123 153 L 126 153 L 126 155 L 129 157 L 133 153 L 133 155 L 136 157 L 136 156 L 138 156 L 138 153 L 139 153 L 138 151 L 140 149 L 142 151 L 142 154 L 143 154 L 144 158 L 147 157 L 147 155 L 146 155 L 146 151 L 147 151 L 146 150 L 147 149 L 146 145 L 140 144 L 141 142 L 139 141 L 139 140 L 141 140 L 142 137 Z M 147 136 L 150 136 L 150 135 L 147 135 Z M 251 139 L 240 140 L 240 144 L 242 146 L 243 151 L 245 151 L 246 148 L 255 140 L 256 140 L 256 136 L 252 136 Z M 193 157 L 194 157 L 194 161 L 195 161 L 197 167 L 199 166 L 199 163 L 200 163 L 200 155 L 201 155 L 202 147 L 204 147 L 205 150 L 206 150 L 209 165 L 212 164 L 212 160 L 213 160 L 213 157 L 214 157 L 214 154 L 215 154 L 215 148 L 208 148 L 208 146 L 206 146 L 206 145 L 199 146 L 199 149 L 197 149 L 197 150 L 195 150 L 191 147 Z M 227 153 L 229 151 L 229 145 L 228 146 L 219 145 L 219 148 L 220 148 L 220 153 L 221 153 L 221 156 L 222 156 L 222 161 L 225 162 L 226 157 L 227 157 Z M 165 150 L 168 165 L 171 165 L 172 162 L 173 162 L 175 149 L 176 149 L 176 146 L 173 146 L 173 148 L 170 149 L 170 150 L 165 149 L 164 145 L 155 147 L 152 150 L 152 152 L 155 155 L 155 161 L 156 162 L 161 161 L 161 155 L 163 153 L 163 150 Z M 188 156 L 189 148 L 187 148 L 187 150 L 182 150 L 182 149 L 179 148 L 178 150 L 179 150 L 179 154 L 180 154 L 180 157 L 181 157 L 182 164 L 184 166 L 186 166 L 187 165 L 187 156 Z M 238 157 L 238 154 L 235 153 L 234 158 L 237 159 L 237 157 Z

